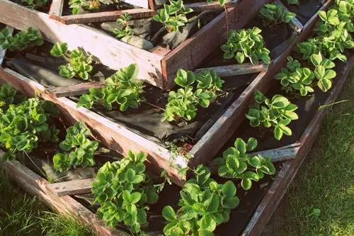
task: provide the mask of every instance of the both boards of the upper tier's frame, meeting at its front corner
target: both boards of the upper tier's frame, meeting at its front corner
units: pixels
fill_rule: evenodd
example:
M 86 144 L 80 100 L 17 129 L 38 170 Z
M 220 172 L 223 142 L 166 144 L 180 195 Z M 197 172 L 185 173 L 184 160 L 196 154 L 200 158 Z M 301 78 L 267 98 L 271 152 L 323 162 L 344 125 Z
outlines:
M 110 69 L 117 70 L 136 63 L 140 79 L 169 89 L 174 85 L 173 79 L 178 69 L 195 69 L 213 49 L 224 42 L 221 35 L 226 31 L 227 18 L 230 29 L 241 29 L 268 1 L 236 1 L 234 7 L 227 8 L 227 13 L 220 13 L 175 49 L 156 47 L 153 52 L 128 45 L 86 25 L 65 25 L 50 19 L 46 13 L 30 10 L 8 0 L 0 1 L 0 22 L 18 30 L 33 27 L 48 42 L 67 42 L 69 49 L 81 47 Z

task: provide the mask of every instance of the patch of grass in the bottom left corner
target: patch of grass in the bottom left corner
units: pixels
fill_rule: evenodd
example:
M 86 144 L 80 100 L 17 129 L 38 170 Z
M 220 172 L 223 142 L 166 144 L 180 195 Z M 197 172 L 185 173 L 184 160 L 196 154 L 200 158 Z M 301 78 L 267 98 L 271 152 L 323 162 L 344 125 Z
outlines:
M 0 236 L 69 235 L 92 233 L 72 217 L 51 213 L 44 203 L 9 182 L 0 172 Z

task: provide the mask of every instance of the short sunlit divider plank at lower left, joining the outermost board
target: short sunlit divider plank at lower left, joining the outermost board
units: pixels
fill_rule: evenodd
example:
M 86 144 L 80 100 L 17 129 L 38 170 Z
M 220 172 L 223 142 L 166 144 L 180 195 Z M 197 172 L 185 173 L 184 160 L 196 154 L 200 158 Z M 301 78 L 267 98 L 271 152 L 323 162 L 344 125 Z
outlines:
M 91 193 L 91 184 L 95 179 L 79 179 L 55 184 L 46 184 L 48 190 L 57 196 Z

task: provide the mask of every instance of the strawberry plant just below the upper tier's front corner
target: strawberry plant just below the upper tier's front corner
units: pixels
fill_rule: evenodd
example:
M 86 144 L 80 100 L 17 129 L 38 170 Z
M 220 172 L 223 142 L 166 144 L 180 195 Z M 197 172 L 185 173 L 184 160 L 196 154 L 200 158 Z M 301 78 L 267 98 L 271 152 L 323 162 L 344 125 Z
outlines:
M 202 71 L 195 75 L 192 71 L 179 69 L 175 83 L 182 88 L 169 93 L 168 103 L 161 121 L 171 122 L 176 119 L 191 120 L 197 115 L 197 106 L 209 107 L 222 90 L 222 81 L 215 71 Z M 195 82 L 197 83 L 196 86 Z

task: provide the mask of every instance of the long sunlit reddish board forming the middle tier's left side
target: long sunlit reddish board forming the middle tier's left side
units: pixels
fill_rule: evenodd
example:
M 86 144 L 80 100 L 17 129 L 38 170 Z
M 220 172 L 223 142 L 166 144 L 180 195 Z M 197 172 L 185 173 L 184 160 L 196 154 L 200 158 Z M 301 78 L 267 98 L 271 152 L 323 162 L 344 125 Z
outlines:
M 161 170 L 166 170 L 167 175 L 176 184 L 183 186 L 185 179 L 178 173 L 178 169 L 171 167 L 171 153 L 166 148 L 139 136 L 118 123 L 92 112 L 84 107 L 76 108 L 76 102 L 67 98 L 56 98 L 46 92 L 45 87 L 35 81 L 22 76 L 11 69 L 0 68 L 0 79 L 11 83 L 14 88 L 21 90 L 27 96 L 39 95 L 58 105 L 66 124 L 74 124 L 77 121 L 85 122 L 93 132 L 93 135 L 108 148 L 126 155 L 128 151 L 142 151 L 148 154 L 147 167 L 158 175 Z M 176 165 L 183 168 L 187 165 L 181 157 L 176 159 Z

